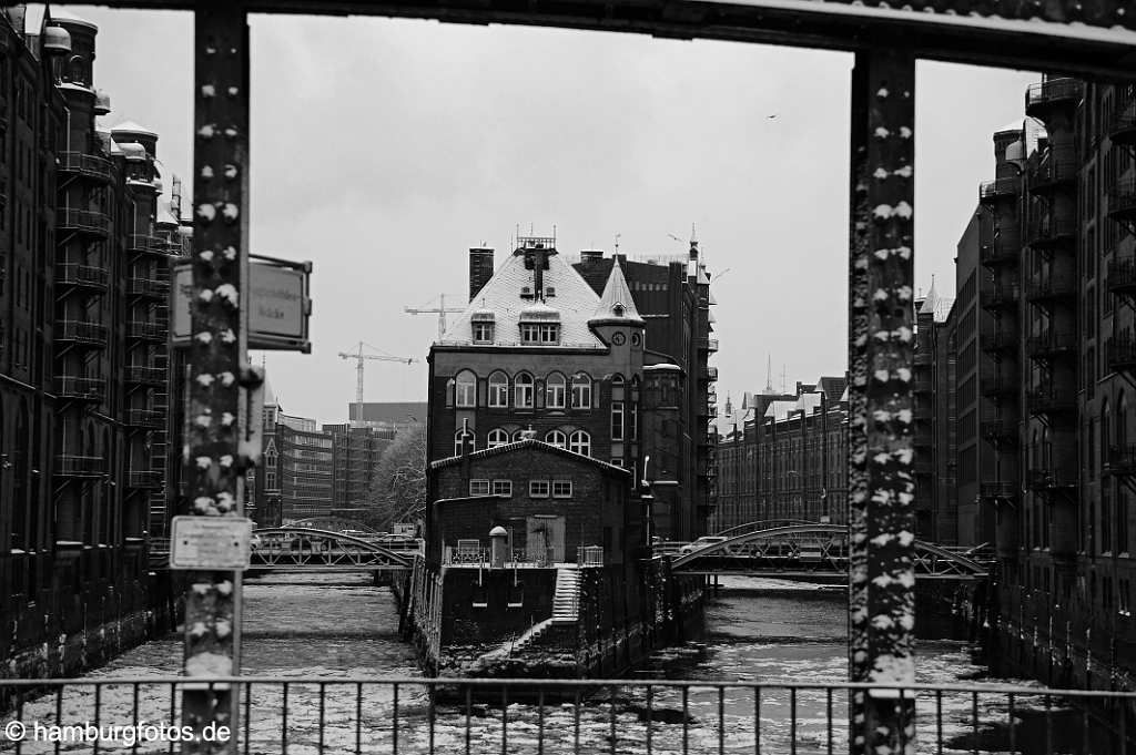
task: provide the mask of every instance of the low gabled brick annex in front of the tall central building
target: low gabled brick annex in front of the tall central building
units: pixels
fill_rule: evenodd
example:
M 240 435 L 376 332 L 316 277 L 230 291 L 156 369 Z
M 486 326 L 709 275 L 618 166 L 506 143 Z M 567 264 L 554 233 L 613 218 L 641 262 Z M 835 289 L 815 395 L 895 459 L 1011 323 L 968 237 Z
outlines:
M 629 470 L 532 438 L 435 461 L 427 561 L 452 562 L 458 540 L 487 550 L 503 527 L 510 561 L 575 563 L 578 547 L 600 546 L 603 563 L 625 563 L 643 538 L 632 488 Z

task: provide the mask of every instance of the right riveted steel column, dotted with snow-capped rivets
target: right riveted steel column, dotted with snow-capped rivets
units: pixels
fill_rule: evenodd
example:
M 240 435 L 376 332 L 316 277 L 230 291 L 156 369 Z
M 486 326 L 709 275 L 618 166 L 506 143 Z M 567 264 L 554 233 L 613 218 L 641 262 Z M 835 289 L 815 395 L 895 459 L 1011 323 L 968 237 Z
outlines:
M 914 57 L 857 54 L 849 269 L 849 669 L 914 682 Z M 851 749 L 914 753 L 914 705 L 857 693 Z

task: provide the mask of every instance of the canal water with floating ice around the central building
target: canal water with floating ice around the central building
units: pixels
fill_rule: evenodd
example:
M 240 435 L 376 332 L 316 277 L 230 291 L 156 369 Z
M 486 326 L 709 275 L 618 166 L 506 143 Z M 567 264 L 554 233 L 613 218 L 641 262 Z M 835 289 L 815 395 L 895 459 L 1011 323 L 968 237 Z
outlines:
M 755 588 L 792 588 L 758 593 Z M 844 595 L 769 580 L 733 579 L 710 601 L 702 641 L 655 654 L 636 677 L 650 679 L 744 680 L 770 685 L 712 685 L 678 688 L 593 689 L 579 706 L 563 702 L 513 703 L 503 707 L 474 699 L 442 704 L 431 715 L 425 688 L 403 686 L 398 698 L 390 686 L 318 685 L 292 687 L 285 703 L 281 686 L 257 686 L 248 696 L 248 736 L 239 752 L 275 755 L 286 752 L 404 753 L 800 753 L 847 750 L 843 693 L 832 698 L 819 690 L 792 694 L 772 685 L 838 682 L 846 674 Z M 733 588 L 733 589 L 730 589 Z M 744 589 L 738 589 L 744 588 Z M 270 576 L 245 586 L 245 676 L 283 678 L 420 677 L 412 648 L 396 634 L 398 615 L 386 588 L 366 576 Z M 148 643 L 89 674 L 115 677 L 175 676 L 181 665 L 178 636 Z M 982 678 L 966 645 L 924 644 L 919 681 L 960 682 Z M 983 681 L 1020 681 L 991 680 Z M 177 696 L 168 687 L 145 686 L 134 699 L 130 687 L 106 687 L 98 701 L 100 723 L 128 725 L 178 723 Z M 1019 699 L 1019 706 L 1029 705 Z M 1036 702 L 1035 702 L 1036 703 Z M 59 701 L 61 720 L 95 720 L 93 693 L 68 693 Z M 56 720 L 55 696 L 25 705 L 25 722 Z M 918 701 L 921 752 L 937 752 L 936 711 L 942 710 L 942 752 L 970 752 L 974 701 L 947 695 Z M 833 718 L 828 715 L 832 710 Z M 282 711 L 286 710 L 286 721 Z M 979 697 L 982 721 L 1006 720 L 1004 703 Z M 6 721 L 11 716 L 7 716 Z M 320 727 L 320 720 L 324 725 Z M 832 723 L 829 723 L 832 721 Z M 759 725 L 755 725 L 755 722 Z M 983 741 L 992 739 L 984 731 Z M 1004 737 L 1003 737 L 1004 739 Z M 0 743 L 2 743 L 0 737 Z M 10 744 L 8 744 L 10 746 Z M 24 744 L 23 752 L 56 752 L 55 744 Z M 0 746 L 2 749 L 3 746 Z M 167 752 L 168 744 L 143 743 L 140 753 Z M 982 752 L 996 752 L 1004 746 Z M 62 744 L 59 752 L 93 752 L 90 744 Z M 134 752 L 126 741 L 100 743 L 99 752 Z M 176 752 L 176 747 L 173 752 Z

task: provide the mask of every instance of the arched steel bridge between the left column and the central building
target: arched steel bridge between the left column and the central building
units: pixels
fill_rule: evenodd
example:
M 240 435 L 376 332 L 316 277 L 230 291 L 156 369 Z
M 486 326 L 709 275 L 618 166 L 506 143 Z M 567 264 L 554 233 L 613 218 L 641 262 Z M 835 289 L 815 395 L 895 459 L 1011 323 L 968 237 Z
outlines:
M 273 527 L 252 532 L 250 570 L 356 571 L 410 569 L 415 553 L 393 551 L 342 532 Z

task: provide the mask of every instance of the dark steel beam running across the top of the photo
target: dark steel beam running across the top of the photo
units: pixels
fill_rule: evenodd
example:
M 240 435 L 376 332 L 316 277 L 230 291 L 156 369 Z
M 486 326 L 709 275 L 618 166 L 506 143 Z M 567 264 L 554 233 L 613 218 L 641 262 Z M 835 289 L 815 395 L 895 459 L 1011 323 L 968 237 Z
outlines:
M 165 10 L 208 7 L 204 0 L 102 0 L 98 5 Z M 1130 79 L 1136 70 L 1136 11 L 1129 0 L 864 0 L 862 5 L 852 0 L 248 0 L 245 8 L 250 12 L 554 26 L 845 51 L 889 49 L 895 40 L 903 40 L 918 57 L 930 60 L 1114 81 Z

